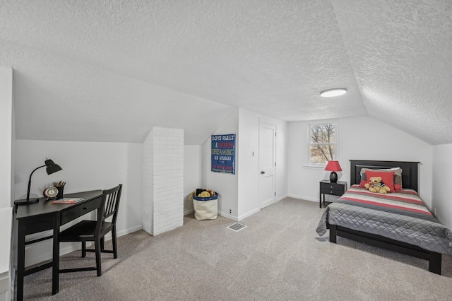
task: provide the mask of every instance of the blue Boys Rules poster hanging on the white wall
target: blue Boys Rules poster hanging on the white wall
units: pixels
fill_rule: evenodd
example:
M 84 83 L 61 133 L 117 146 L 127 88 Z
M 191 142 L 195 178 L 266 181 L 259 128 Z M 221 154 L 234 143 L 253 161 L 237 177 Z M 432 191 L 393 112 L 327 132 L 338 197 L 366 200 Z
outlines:
M 213 172 L 235 175 L 235 134 L 212 135 Z

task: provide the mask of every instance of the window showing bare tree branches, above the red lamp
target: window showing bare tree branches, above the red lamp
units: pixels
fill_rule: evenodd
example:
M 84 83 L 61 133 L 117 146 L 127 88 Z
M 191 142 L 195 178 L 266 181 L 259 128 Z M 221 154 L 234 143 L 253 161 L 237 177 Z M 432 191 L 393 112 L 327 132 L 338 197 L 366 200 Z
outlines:
M 323 165 L 336 158 L 335 123 L 309 124 L 309 164 Z

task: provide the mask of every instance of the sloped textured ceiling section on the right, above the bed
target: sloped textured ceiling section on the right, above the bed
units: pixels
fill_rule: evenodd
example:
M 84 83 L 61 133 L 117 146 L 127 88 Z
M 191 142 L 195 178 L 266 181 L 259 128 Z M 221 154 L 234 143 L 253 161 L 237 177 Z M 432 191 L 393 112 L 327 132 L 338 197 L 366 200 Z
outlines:
M 452 1 L 332 3 L 369 114 L 452 143 Z

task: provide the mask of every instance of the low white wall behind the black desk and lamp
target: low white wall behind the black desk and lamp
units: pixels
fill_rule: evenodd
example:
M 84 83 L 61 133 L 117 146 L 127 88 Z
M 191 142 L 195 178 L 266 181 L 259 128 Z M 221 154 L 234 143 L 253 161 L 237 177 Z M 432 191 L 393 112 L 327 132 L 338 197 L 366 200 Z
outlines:
M 141 230 L 141 143 L 97 143 L 71 141 L 16 141 L 16 198 L 27 194 L 30 172 L 50 158 L 63 170 L 47 175 L 45 168 L 32 176 L 31 196 L 42 196 L 53 181 L 64 180 L 64 193 L 108 189 L 123 184 L 117 218 L 117 235 Z M 30 245 L 25 264 L 35 264 L 51 258 L 48 242 Z M 61 254 L 72 251 L 61 248 Z

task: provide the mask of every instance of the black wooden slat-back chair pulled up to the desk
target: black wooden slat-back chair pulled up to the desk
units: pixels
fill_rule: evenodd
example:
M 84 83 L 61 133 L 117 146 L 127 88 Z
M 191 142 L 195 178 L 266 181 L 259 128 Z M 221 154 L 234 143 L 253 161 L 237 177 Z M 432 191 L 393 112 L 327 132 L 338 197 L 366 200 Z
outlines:
M 82 220 L 80 223 L 67 228 L 59 233 L 59 242 L 81 242 L 82 257 L 86 252 L 95 252 L 96 266 L 87 268 L 66 268 L 59 269 L 59 273 L 79 272 L 79 271 L 97 271 L 97 276 L 102 275 L 100 264 L 100 253 L 113 253 L 114 258 L 118 258 L 117 237 L 116 237 L 116 218 L 119 208 L 119 199 L 121 198 L 122 184 L 112 189 L 104 190 L 102 201 L 97 208 L 97 220 Z M 112 216 L 112 221 L 105 219 Z M 105 235 L 112 231 L 112 250 L 104 249 Z M 86 242 L 94 242 L 95 249 L 86 249 Z

